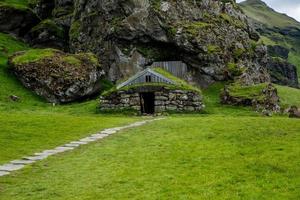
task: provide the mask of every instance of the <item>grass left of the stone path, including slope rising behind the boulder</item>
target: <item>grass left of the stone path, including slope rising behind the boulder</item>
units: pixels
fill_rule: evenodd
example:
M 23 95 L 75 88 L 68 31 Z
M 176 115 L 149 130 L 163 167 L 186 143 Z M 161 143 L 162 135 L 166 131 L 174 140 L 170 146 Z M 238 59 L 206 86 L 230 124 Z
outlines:
M 46 103 L 24 88 L 7 66 L 9 55 L 25 49 L 26 44 L 0 33 L 0 164 L 138 120 L 96 114 L 97 100 L 55 107 Z M 10 100 L 10 95 L 20 101 Z

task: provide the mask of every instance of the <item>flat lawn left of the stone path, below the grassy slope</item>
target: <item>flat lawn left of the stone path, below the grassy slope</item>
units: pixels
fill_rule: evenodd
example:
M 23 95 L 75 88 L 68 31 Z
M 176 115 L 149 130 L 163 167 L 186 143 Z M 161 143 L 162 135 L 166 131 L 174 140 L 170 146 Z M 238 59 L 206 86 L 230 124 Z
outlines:
M 0 112 L 0 164 L 136 120 L 133 117 L 109 115 Z

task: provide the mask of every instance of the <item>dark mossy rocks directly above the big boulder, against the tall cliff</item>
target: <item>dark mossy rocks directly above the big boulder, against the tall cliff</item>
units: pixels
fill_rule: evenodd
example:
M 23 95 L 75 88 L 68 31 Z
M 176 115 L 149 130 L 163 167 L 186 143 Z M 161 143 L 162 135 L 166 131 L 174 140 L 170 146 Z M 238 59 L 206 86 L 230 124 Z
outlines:
M 68 51 L 73 0 L 36 0 L 31 7 L 43 20 L 26 34 L 26 41 L 34 47 Z

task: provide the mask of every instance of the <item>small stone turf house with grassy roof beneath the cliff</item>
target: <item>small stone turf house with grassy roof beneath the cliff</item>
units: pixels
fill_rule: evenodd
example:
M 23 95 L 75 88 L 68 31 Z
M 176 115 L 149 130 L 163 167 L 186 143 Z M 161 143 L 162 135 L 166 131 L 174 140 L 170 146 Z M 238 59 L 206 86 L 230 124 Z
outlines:
M 132 110 L 141 114 L 199 112 L 201 91 L 162 68 L 147 68 L 102 94 L 100 109 Z

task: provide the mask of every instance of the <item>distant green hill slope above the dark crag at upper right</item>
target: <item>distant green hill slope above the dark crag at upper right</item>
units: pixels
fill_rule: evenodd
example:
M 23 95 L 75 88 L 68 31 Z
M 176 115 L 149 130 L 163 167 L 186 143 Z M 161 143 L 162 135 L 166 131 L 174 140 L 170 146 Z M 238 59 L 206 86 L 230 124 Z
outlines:
M 300 74 L 300 22 L 276 12 L 260 0 L 247 0 L 240 3 L 266 45 L 280 45 L 290 50 L 288 60 L 297 66 Z M 300 81 L 300 78 L 299 78 Z

